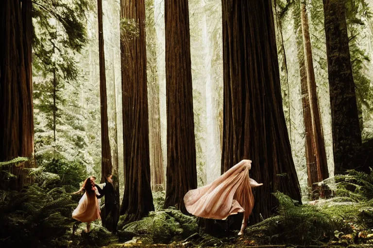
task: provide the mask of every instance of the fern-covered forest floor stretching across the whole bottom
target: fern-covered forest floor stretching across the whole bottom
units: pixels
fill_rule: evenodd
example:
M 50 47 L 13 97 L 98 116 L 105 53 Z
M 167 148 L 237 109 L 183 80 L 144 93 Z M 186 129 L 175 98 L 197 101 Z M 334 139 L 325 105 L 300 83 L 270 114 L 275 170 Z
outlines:
M 60 164 L 54 163 L 53 168 L 63 168 Z M 218 234 L 210 235 L 199 227 L 197 217 L 163 209 L 164 192 L 153 192 L 155 211 L 147 217 L 128 223 L 121 216 L 116 234 L 102 227 L 101 221 L 85 233 L 85 224 L 71 218 L 80 196 L 68 193 L 76 190 L 71 182 L 84 178 L 68 181 L 65 177 L 66 185 L 60 186 L 58 176 L 42 169 L 34 169 L 40 179 L 22 191 L 0 190 L 0 247 L 373 248 L 373 172 L 335 176 L 332 183 L 321 186 L 319 196 L 314 195 L 322 199 L 303 204 L 273 193 L 278 202 L 273 215 L 238 236 L 238 231 L 228 231 L 230 217 L 214 221 L 213 231 Z M 325 194 L 327 190 L 331 194 Z

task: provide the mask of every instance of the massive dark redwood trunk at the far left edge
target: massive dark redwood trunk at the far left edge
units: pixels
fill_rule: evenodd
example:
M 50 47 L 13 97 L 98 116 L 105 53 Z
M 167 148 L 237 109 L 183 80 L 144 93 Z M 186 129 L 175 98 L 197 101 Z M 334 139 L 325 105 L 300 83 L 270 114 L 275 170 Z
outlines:
M 31 10 L 31 0 L 0 2 L 0 161 L 34 156 Z M 22 167 L 33 165 L 11 168 L 15 188 L 26 182 Z

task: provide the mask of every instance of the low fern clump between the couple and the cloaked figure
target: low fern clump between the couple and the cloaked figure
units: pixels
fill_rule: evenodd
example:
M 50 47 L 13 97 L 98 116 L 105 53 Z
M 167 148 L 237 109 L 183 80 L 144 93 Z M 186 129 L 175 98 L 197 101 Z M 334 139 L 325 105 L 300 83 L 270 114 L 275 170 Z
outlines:
M 118 230 L 122 237 L 148 237 L 154 243 L 169 243 L 175 237 L 188 237 L 198 232 L 196 217 L 182 214 L 174 208 L 150 212 L 148 217 L 124 224 L 124 216 L 119 219 Z

